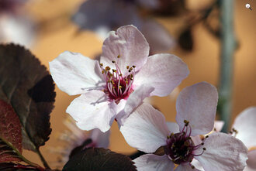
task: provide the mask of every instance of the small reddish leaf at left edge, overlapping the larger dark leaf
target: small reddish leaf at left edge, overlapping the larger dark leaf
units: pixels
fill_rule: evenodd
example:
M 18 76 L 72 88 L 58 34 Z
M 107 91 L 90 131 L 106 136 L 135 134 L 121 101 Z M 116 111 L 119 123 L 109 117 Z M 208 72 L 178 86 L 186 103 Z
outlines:
M 22 132 L 19 118 L 11 105 L 0 100 L 0 162 L 19 162 Z

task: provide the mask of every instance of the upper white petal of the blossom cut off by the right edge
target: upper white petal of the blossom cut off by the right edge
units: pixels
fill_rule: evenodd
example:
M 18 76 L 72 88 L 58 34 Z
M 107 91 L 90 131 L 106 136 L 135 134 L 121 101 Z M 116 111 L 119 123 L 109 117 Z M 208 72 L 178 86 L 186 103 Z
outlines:
M 236 138 L 250 149 L 256 146 L 256 107 L 247 108 L 237 116 L 232 128 L 237 130 Z

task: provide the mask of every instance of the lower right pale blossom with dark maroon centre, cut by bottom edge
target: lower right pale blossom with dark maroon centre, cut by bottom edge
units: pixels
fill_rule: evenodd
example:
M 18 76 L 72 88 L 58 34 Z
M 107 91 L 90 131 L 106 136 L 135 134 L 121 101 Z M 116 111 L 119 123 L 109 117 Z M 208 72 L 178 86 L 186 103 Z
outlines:
M 186 87 L 176 102 L 178 125 L 165 124 L 160 111 L 141 104 L 120 128 L 129 145 L 150 153 L 133 160 L 137 169 L 196 171 L 199 169 L 191 163 L 196 159 L 206 171 L 243 170 L 247 148 L 239 139 L 214 132 L 199 144 L 193 142 L 192 136 L 213 130 L 217 100 L 218 93 L 211 84 L 202 82 Z

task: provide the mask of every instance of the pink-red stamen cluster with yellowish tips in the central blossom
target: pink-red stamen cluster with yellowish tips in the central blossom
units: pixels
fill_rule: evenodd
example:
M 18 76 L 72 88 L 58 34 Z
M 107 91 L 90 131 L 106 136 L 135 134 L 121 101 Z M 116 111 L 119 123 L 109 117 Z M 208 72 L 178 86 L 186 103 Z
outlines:
M 135 75 L 135 66 L 126 66 L 128 74 L 122 74 L 117 64 L 119 58 L 120 56 L 117 56 L 117 62 L 112 61 L 116 69 L 111 69 L 109 66 L 104 68 L 103 63 L 100 63 L 102 74 L 106 80 L 106 89 L 104 89 L 104 92 L 109 95 L 110 99 L 115 100 L 116 104 L 118 104 L 121 99 L 129 97 L 130 93 L 133 91 L 132 85 Z

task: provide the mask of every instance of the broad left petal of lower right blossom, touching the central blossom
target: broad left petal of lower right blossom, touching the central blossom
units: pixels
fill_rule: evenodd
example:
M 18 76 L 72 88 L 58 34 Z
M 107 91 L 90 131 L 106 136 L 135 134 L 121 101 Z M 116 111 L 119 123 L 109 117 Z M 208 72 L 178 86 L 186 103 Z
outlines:
M 155 152 L 170 135 L 164 115 L 150 104 L 141 104 L 120 128 L 126 142 L 143 152 Z

